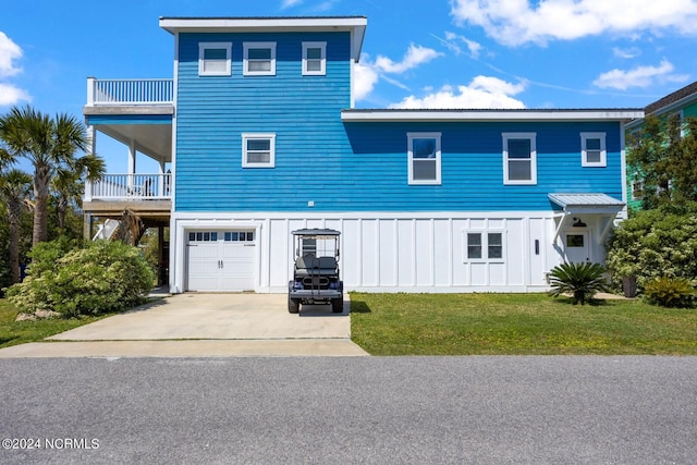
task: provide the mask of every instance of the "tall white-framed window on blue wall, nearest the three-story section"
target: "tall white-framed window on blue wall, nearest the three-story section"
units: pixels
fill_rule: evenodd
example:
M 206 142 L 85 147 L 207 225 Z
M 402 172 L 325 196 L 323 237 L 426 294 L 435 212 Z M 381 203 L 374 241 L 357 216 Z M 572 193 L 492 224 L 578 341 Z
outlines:
M 440 184 L 441 133 L 408 133 L 408 183 Z

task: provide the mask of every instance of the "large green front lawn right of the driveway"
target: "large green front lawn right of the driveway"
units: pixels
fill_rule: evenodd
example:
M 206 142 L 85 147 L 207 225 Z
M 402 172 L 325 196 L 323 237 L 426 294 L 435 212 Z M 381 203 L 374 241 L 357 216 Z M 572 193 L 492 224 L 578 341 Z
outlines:
M 352 339 L 372 355 L 697 355 L 697 310 L 546 294 L 351 294 Z

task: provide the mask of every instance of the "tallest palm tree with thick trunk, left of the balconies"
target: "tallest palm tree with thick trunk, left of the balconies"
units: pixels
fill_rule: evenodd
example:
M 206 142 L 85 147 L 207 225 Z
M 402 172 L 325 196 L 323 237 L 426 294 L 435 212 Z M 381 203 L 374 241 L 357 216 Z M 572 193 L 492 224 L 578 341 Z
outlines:
M 29 106 L 14 107 L 0 118 L 0 139 L 15 157 L 24 157 L 34 166 L 36 204 L 32 242 L 44 242 L 48 237 L 47 205 L 51 179 L 61 167 L 74 168 L 80 160 L 75 154 L 87 149 L 85 125 L 68 114 L 57 114 L 52 119 Z

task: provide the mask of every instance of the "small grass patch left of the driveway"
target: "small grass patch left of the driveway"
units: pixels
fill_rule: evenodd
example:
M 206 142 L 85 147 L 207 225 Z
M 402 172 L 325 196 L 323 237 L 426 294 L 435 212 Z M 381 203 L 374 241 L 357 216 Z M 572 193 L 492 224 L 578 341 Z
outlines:
M 36 321 L 14 321 L 20 311 L 7 299 L 0 298 L 0 348 L 26 342 L 40 341 L 49 335 L 77 328 L 105 318 L 84 317 L 71 319 L 46 319 Z

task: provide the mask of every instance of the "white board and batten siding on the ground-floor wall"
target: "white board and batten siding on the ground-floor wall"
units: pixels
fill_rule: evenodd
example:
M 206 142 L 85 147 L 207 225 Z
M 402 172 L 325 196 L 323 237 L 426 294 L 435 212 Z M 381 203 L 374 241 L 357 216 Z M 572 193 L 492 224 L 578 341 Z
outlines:
M 303 228 L 330 228 L 342 233 L 340 267 L 347 291 L 545 291 L 549 289 L 547 273 L 563 260 L 562 238 L 552 244 L 557 222 L 551 211 L 408 216 L 313 213 L 303 215 L 302 218 L 299 215 L 264 212 L 176 213 L 171 230 L 174 246 L 171 248 L 173 273 L 170 284 L 172 292 L 212 290 L 284 293 L 292 277 L 294 260 L 291 232 Z M 199 265 L 192 264 L 192 247 L 188 246 L 192 231 L 254 232 L 254 246 L 247 244 L 246 255 L 237 264 L 245 267 L 245 272 L 239 273 L 235 279 L 242 280 L 244 285 L 231 285 L 233 278 L 224 274 L 227 270 L 205 271 L 205 279 L 216 284 L 203 285 L 200 278 L 193 276 L 199 272 Z M 486 235 L 489 232 L 501 233 L 501 258 L 468 259 L 466 234 Z M 218 244 L 217 247 L 217 250 L 210 250 L 209 268 L 211 265 L 215 268 L 216 260 L 221 259 L 224 253 L 221 247 L 227 250 L 224 244 Z M 595 247 L 596 259 L 602 258 L 597 256 L 600 248 Z M 194 257 L 197 257 L 197 252 Z

